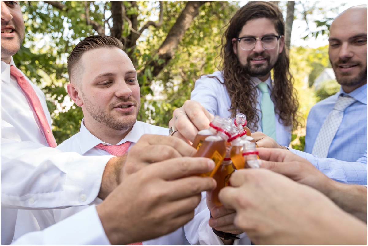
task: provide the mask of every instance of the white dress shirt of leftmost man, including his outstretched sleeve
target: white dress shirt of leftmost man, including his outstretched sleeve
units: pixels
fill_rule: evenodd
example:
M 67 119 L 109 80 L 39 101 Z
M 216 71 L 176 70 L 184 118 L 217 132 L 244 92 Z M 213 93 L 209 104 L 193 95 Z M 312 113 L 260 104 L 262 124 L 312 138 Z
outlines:
M 1 245 L 13 239 L 18 208 L 90 204 L 100 190 L 96 180 L 102 179 L 110 158 L 81 157 L 48 147 L 32 107 L 10 75 L 10 65 L 15 66 L 13 58 L 10 64 L 1 61 Z M 29 82 L 51 124 L 45 95 Z

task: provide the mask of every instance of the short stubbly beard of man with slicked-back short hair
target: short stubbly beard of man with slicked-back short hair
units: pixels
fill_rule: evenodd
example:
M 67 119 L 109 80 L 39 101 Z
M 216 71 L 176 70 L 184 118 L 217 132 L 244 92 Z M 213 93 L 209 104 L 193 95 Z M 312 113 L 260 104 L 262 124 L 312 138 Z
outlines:
M 85 95 L 83 95 L 84 98 L 84 105 L 86 107 L 86 110 L 89 112 L 89 114 L 92 116 L 93 119 L 95 119 L 98 123 L 103 124 L 113 130 L 127 130 L 130 129 L 135 122 L 137 122 L 137 115 L 140 108 L 140 102 L 137 103 L 135 100 L 130 99 L 119 99 L 113 103 L 110 103 L 109 109 L 113 109 L 116 107 L 117 104 L 121 102 L 132 102 L 134 105 L 138 105 L 137 113 L 135 115 L 128 114 L 126 116 L 126 119 L 116 119 L 112 115 L 110 115 L 108 112 L 106 112 L 106 109 L 103 109 L 99 106 L 92 105 L 91 101 L 89 101 Z M 134 107 L 134 106 L 132 106 Z

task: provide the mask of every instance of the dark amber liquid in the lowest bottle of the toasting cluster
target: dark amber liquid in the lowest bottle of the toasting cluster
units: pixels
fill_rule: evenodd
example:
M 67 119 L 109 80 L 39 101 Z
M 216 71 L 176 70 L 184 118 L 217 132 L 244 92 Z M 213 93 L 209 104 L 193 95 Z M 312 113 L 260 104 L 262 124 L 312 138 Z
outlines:
M 213 178 L 216 180 L 217 186 L 215 190 L 210 192 L 211 202 L 216 206 L 221 206 L 222 203 L 219 200 L 219 192 L 220 190 L 230 185 L 230 176 L 234 172 L 233 165 L 231 165 L 231 161 L 223 161 L 220 168 L 217 170 Z

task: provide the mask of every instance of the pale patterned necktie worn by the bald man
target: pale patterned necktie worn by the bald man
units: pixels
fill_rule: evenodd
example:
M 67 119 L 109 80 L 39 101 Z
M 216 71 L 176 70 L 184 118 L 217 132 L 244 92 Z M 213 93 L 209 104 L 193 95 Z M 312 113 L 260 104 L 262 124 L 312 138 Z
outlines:
M 337 98 L 335 106 L 326 117 L 321 129 L 318 132 L 316 141 L 313 145 L 312 155 L 318 155 L 319 158 L 327 158 L 328 150 L 335 138 L 336 132 L 344 117 L 344 110 L 356 100 L 349 95 L 342 94 Z

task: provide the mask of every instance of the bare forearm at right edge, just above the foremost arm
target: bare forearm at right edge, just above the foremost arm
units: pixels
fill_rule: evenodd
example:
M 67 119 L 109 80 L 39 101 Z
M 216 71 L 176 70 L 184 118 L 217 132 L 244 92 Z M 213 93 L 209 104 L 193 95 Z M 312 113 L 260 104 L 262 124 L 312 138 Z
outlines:
M 367 187 L 333 181 L 326 195 L 344 211 L 367 223 Z

